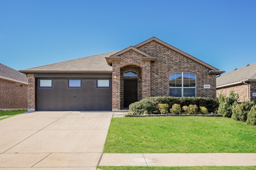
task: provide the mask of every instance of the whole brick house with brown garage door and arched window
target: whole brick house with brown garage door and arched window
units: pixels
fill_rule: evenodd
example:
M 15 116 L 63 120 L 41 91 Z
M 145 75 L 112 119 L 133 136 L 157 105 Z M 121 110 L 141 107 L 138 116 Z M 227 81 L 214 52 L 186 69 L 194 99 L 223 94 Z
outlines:
M 214 98 L 216 75 L 224 71 L 152 37 L 122 51 L 20 72 L 28 74 L 30 111 L 115 111 L 150 96 Z

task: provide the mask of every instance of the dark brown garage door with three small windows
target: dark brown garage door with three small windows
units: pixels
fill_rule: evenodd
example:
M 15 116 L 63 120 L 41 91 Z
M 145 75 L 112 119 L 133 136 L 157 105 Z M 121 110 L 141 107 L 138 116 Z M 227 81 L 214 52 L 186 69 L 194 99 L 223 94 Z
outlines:
M 37 110 L 111 110 L 111 79 L 76 79 L 80 81 L 74 86 L 81 82 L 80 87 L 70 87 L 69 80 L 72 79 L 37 79 Z M 109 87 L 104 85 L 107 80 Z

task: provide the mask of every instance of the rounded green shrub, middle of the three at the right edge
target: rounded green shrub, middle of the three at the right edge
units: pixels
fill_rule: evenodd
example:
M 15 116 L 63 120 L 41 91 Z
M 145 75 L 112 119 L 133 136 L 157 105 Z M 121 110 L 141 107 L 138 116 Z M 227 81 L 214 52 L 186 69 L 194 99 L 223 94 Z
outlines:
M 241 104 L 235 104 L 232 110 L 231 118 L 245 122 L 247 120 L 247 114 L 253 106 L 254 102 L 248 100 L 243 101 Z

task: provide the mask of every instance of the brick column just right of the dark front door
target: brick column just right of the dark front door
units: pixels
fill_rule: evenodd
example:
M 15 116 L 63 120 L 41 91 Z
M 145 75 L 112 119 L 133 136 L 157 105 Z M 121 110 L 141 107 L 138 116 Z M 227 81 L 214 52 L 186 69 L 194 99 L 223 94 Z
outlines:
M 151 70 L 150 70 L 150 61 L 142 61 L 142 99 L 151 96 Z

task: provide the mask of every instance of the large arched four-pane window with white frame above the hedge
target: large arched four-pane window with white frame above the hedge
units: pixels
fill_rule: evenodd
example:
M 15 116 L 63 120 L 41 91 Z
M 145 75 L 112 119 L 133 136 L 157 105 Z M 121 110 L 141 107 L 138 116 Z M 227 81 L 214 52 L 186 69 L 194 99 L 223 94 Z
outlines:
M 170 96 L 196 96 L 196 74 L 190 72 L 175 72 L 169 74 Z

